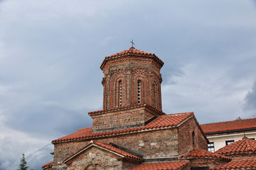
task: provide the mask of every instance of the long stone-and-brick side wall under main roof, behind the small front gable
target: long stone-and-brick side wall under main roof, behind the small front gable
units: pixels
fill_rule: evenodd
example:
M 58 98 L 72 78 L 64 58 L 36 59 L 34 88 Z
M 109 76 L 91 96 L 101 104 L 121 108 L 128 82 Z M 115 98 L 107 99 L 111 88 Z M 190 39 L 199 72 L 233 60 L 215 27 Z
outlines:
M 174 157 L 178 155 L 178 131 L 176 128 L 140 132 L 95 139 L 104 143 L 114 143 L 141 154 L 144 159 Z M 55 144 L 53 164 L 63 162 L 90 143 L 90 140 Z

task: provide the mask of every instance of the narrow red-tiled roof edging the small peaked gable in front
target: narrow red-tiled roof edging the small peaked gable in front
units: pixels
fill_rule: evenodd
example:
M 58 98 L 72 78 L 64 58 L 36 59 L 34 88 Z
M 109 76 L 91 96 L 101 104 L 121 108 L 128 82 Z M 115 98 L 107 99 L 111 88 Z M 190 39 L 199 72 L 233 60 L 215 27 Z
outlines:
M 110 152 L 114 152 L 116 154 L 122 155 L 126 159 L 134 159 L 136 161 L 142 162 L 142 158 L 137 157 L 134 154 L 130 154 L 128 152 L 123 151 L 122 149 L 118 149 L 117 147 L 113 147 L 112 145 L 109 145 L 109 144 L 105 144 L 105 143 L 102 143 L 102 142 L 97 142 L 95 140 L 91 140 L 89 145 L 87 145 L 86 147 L 80 149 L 80 151 L 76 152 L 71 157 L 68 157 L 68 159 L 65 159 L 63 161 L 63 163 L 68 162 L 68 160 L 70 160 L 74 156 L 80 154 L 80 152 L 82 152 L 83 150 L 85 150 L 85 149 L 87 149 L 88 147 L 91 147 L 91 146 L 102 147 L 102 148 L 105 148 L 105 149 L 109 150 Z

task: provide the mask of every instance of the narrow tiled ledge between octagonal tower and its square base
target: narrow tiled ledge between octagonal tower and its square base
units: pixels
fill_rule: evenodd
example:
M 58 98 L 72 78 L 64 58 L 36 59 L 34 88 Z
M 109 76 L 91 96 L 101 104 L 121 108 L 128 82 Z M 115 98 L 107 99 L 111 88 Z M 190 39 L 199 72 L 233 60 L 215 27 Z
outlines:
M 94 115 L 94 114 L 99 114 L 99 113 L 106 113 L 106 112 L 112 112 L 112 111 L 122 111 L 123 109 L 127 109 L 127 108 L 139 108 L 142 106 L 146 106 L 148 108 L 151 108 L 152 110 L 158 112 L 161 115 L 166 115 L 166 113 L 164 113 L 163 111 L 161 111 L 159 108 L 156 108 L 154 106 L 151 106 L 147 103 L 142 103 L 139 105 L 134 105 L 134 106 L 122 106 L 122 107 L 118 107 L 118 108 L 110 108 L 107 110 L 101 110 L 101 111 L 93 111 L 93 112 L 89 112 L 88 115 Z

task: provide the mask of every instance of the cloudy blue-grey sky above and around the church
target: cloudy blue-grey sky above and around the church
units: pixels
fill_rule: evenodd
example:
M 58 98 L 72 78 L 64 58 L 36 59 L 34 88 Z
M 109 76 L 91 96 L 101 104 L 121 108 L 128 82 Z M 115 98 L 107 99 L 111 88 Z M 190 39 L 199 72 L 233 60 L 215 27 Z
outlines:
M 0 0 L 0 169 L 53 157 L 51 141 L 102 110 L 104 57 L 164 61 L 165 113 L 256 118 L 256 1 Z

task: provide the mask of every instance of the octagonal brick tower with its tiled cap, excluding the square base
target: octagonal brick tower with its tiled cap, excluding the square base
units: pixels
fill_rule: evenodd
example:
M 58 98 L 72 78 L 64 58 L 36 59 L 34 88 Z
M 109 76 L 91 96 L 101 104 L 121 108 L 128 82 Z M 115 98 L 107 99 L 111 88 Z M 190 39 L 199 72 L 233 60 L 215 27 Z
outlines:
M 106 57 L 102 63 L 103 109 L 140 103 L 161 109 L 160 69 L 164 62 L 134 47 L 126 51 Z

